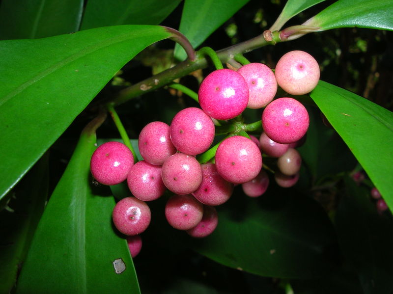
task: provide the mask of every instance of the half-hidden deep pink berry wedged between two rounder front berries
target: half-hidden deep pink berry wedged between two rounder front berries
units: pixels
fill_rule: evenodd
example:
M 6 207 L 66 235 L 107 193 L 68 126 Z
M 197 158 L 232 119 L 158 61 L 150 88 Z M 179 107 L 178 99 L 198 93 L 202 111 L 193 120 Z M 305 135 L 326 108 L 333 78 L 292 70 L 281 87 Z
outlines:
M 201 164 L 202 183 L 192 194 L 203 204 L 216 206 L 225 203 L 233 191 L 233 184 L 226 181 L 214 163 Z

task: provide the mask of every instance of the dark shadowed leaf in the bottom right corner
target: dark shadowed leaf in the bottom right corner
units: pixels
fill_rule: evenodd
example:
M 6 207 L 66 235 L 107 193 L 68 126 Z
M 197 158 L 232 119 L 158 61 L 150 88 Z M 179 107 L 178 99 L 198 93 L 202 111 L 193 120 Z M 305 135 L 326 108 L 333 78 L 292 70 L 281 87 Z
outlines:
M 336 214 L 344 258 L 358 274 L 363 293 L 392 293 L 392 215 L 377 213 L 367 187 L 357 186 L 349 177 L 345 187 Z

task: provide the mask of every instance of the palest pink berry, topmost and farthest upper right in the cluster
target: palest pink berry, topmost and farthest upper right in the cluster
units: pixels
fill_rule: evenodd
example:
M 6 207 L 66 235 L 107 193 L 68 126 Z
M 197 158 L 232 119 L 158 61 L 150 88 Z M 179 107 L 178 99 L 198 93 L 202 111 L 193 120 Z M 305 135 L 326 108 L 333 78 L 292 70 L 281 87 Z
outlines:
M 280 58 L 275 74 L 277 83 L 284 91 L 292 95 L 304 95 L 316 87 L 320 70 L 314 57 L 295 50 Z

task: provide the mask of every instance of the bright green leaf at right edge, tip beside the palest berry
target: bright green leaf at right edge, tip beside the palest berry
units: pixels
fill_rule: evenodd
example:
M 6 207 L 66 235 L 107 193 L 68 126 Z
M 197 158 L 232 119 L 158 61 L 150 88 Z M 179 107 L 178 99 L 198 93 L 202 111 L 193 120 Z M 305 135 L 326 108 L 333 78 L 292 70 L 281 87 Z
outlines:
M 321 80 L 310 96 L 393 211 L 393 112 Z

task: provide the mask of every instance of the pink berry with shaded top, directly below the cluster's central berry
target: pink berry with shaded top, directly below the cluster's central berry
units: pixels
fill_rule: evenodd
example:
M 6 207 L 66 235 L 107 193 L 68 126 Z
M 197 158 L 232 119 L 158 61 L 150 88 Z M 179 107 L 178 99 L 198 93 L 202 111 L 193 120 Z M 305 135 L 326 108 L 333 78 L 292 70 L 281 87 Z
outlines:
M 191 194 L 172 195 L 165 206 L 168 223 L 178 230 L 195 227 L 203 215 L 203 205 Z

